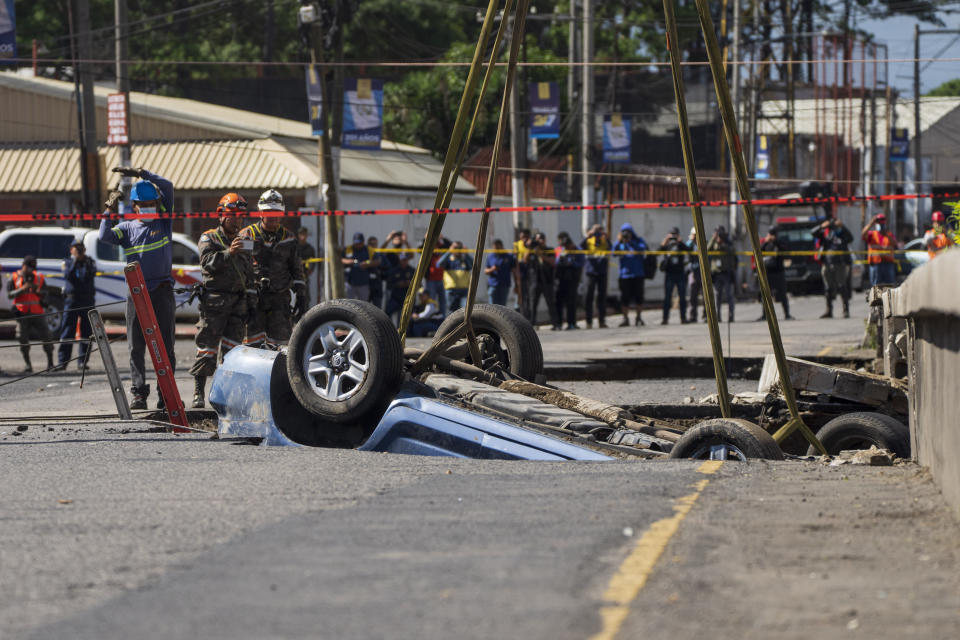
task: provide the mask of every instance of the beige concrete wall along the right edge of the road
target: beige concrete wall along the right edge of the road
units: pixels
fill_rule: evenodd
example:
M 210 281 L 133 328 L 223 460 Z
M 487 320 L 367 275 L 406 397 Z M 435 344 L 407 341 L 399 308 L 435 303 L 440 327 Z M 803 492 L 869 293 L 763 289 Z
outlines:
M 904 318 L 913 455 L 960 517 L 960 249 L 883 293 L 886 318 Z

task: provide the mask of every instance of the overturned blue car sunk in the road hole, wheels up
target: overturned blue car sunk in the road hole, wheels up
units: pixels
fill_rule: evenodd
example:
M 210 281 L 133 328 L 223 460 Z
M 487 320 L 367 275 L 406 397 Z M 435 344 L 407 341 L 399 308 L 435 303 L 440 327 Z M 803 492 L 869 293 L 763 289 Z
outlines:
M 462 320 L 462 310 L 447 318 L 438 341 Z M 403 349 L 379 308 L 347 299 L 319 304 L 285 351 L 240 347 L 226 356 L 210 391 L 219 433 L 269 445 L 468 458 L 784 457 L 766 430 L 742 418 L 649 417 L 544 384 L 536 331 L 511 309 L 475 305 L 472 327 L 473 347 L 453 341 L 424 366 L 423 351 Z M 902 441 L 905 431 L 901 425 L 895 437 Z

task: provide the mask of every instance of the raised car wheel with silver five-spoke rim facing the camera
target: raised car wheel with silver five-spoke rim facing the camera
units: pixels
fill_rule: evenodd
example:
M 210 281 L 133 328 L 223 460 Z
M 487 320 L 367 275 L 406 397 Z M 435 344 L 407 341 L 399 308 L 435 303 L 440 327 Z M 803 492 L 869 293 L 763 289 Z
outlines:
M 287 376 L 304 409 L 329 422 L 356 424 L 382 411 L 399 388 L 400 336 L 369 302 L 323 302 L 293 329 Z

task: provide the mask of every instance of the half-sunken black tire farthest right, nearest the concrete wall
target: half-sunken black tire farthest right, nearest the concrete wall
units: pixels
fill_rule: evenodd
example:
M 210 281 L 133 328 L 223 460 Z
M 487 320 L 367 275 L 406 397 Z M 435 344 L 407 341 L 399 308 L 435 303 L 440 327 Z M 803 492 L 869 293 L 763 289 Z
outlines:
M 910 457 L 910 429 L 896 418 L 869 411 L 837 416 L 817 432 L 817 438 L 831 456 L 850 449 L 869 449 L 876 445 L 897 454 Z M 807 455 L 818 455 L 811 446 Z

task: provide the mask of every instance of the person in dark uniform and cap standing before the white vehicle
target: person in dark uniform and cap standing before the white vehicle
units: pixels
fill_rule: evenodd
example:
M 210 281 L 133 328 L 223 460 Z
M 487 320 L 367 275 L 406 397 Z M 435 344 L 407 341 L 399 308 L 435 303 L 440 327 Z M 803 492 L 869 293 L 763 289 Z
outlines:
M 93 334 L 87 310 L 94 305 L 97 297 L 97 264 L 87 256 L 82 242 L 74 242 L 70 245 L 70 257 L 63 263 L 62 268 L 65 283 L 63 293 L 67 300 L 63 312 L 63 330 L 60 332 L 60 347 L 57 349 L 57 369 L 62 371 L 67 368 L 67 362 L 73 353 L 73 337 L 76 335 L 78 320 L 83 341 L 79 344 L 80 362 L 77 366 L 86 369 L 88 339 Z

